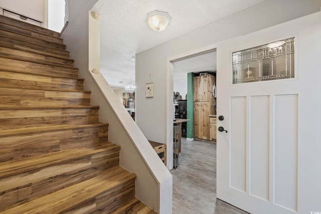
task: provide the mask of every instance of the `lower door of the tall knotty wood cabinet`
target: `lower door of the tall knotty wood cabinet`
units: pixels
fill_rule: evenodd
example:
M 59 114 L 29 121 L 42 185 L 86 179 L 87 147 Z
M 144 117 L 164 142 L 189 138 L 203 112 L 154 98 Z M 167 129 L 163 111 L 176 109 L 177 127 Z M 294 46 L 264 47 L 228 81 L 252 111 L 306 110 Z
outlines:
M 209 102 L 194 103 L 194 137 L 208 140 L 210 137 Z

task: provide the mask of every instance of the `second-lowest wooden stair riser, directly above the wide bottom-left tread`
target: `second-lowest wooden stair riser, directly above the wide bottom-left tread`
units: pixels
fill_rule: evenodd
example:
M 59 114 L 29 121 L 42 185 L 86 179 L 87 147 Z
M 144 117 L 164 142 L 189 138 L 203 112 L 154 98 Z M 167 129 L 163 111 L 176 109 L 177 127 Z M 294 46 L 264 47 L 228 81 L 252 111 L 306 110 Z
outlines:
M 111 159 L 108 163 L 97 159 Z M 119 148 L 0 179 L 0 211 L 106 173 L 119 165 Z

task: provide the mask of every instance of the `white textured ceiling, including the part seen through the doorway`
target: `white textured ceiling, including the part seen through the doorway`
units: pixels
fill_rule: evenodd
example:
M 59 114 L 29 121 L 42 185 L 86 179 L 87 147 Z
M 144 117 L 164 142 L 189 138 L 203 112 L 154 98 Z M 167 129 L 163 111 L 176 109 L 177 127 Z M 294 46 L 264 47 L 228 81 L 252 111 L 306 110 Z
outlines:
M 111 86 L 134 82 L 135 54 L 162 44 L 265 0 L 99 0 L 92 11 L 100 15 L 100 71 Z M 168 12 L 172 20 L 165 31 L 154 32 L 145 22 L 151 11 Z M 213 53 L 177 62 L 175 72 L 216 70 L 208 62 Z M 215 57 L 216 59 L 216 57 Z M 199 63 L 198 63 L 199 62 Z M 197 67 L 200 66 L 200 67 Z M 122 82 L 122 83 L 121 83 Z

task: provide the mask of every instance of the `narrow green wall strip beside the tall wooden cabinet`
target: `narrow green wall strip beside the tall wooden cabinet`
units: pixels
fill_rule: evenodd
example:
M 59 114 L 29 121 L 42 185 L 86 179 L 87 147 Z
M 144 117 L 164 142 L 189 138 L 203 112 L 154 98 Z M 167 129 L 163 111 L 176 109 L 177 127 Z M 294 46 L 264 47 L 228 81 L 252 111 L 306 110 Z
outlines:
M 193 80 L 196 74 L 187 74 L 187 138 L 193 138 Z

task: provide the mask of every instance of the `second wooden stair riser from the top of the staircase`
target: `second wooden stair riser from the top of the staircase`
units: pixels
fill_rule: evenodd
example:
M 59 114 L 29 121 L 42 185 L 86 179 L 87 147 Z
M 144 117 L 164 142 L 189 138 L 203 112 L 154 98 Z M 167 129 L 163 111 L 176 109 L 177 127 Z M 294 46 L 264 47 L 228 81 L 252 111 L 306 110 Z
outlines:
M 0 31 L 1 30 L 13 31 L 13 32 L 16 32 L 16 33 L 19 33 L 19 34 L 23 34 L 23 35 L 26 35 L 26 36 L 31 36 L 31 37 L 34 37 L 34 38 L 37 38 L 37 39 L 40 39 L 40 40 L 45 40 L 45 41 L 49 41 L 49 42 L 63 44 L 63 40 L 61 38 L 47 36 L 45 34 L 29 31 L 29 30 L 26 30 L 26 29 L 22 29 L 22 28 L 19 28 L 19 27 L 11 26 L 11 25 L 4 24 L 4 23 L 0 22 Z

